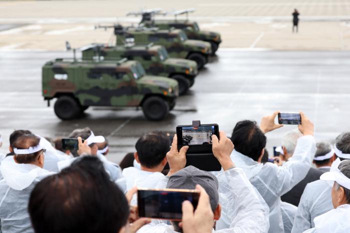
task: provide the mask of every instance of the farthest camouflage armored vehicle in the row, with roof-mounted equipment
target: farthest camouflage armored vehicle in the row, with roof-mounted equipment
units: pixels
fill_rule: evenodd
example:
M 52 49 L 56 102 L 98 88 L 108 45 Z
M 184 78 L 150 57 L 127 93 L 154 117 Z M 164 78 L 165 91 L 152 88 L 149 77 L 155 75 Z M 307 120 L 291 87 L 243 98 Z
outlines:
M 158 27 L 159 29 L 183 29 L 189 39 L 197 39 L 207 41 L 211 44 L 211 54 L 214 55 L 221 43 L 221 35 L 218 32 L 200 30 L 196 21 L 188 19 L 188 13 L 193 12 L 194 9 L 183 9 L 173 12 L 175 19 L 154 19 L 156 14 L 165 14 L 160 12 L 161 9 L 148 9 L 139 12 L 130 12 L 128 15 L 142 15 L 140 25 L 146 27 Z M 177 19 L 178 15 L 186 14 L 186 19 Z

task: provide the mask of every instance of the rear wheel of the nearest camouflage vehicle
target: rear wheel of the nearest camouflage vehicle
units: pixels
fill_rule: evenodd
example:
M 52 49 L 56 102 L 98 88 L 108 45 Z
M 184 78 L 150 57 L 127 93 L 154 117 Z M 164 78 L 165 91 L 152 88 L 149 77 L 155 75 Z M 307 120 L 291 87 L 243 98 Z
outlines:
M 81 106 L 73 97 L 63 95 L 56 100 L 54 110 L 60 119 L 73 119 L 79 115 Z

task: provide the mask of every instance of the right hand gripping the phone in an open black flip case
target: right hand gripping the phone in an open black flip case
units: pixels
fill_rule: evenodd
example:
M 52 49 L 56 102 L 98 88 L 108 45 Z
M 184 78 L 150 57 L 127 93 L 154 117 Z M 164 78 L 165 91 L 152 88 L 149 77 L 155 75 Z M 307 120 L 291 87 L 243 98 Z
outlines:
M 219 138 L 216 135 L 212 135 L 213 141 L 213 154 L 219 160 L 222 168 L 228 170 L 232 167 L 235 167 L 232 159 L 231 153 L 234 149 L 232 141 L 226 136 L 224 131 L 219 131 Z

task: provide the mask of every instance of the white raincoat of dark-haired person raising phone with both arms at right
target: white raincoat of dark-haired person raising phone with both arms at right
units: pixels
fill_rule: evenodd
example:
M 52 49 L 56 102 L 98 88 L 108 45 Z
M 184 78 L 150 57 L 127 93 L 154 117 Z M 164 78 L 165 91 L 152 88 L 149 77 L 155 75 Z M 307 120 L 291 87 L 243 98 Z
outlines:
M 237 167 L 244 170 L 250 182 L 260 192 L 270 208 L 270 229 L 268 232 L 284 232 L 280 196 L 306 176 L 315 150 L 313 136 L 302 136 L 297 140 L 293 156 L 282 166 L 271 162 L 263 165 L 236 150 L 232 151 L 232 161 Z

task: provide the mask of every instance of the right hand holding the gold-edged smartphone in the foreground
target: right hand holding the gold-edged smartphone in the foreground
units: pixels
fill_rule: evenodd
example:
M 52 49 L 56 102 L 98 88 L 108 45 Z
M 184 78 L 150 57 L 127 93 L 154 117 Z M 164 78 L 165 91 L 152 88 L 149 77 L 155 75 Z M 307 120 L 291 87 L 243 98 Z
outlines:
M 210 207 L 209 195 L 199 184 L 196 189 L 200 191 L 197 208 L 193 212 L 192 203 L 185 200 L 182 203 L 182 221 L 179 226 L 184 233 L 211 233 L 214 226 L 214 213 Z

